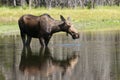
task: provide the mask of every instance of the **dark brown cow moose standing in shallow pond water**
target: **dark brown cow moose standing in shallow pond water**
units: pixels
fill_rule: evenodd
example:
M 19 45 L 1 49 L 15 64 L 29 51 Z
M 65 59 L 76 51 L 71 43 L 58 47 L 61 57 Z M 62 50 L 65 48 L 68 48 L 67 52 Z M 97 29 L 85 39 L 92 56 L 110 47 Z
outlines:
M 62 15 L 60 18 L 61 20 L 55 20 L 49 14 L 21 16 L 18 25 L 23 45 L 30 46 L 31 39 L 38 38 L 41 46 L 47 46 L 52 35 L 60 31 L 70 34 L 73 39 L 78 39 L 79 33 L 71 24 L 70 18 L 66 20 Z

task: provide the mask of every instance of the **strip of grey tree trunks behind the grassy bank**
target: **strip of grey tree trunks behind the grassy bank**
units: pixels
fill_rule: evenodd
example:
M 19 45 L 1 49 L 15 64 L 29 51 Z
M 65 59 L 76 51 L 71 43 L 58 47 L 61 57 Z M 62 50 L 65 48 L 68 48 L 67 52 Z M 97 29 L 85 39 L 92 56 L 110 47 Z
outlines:
M 61 8 L 76 8 L 87 6 L 90 8 L 95 8 L 95 6 L 112 6 L 120 5 L 120 0 L 0 0 L 0 5 L 5 6 L 29 6 L 32 7 L 61 7 Z

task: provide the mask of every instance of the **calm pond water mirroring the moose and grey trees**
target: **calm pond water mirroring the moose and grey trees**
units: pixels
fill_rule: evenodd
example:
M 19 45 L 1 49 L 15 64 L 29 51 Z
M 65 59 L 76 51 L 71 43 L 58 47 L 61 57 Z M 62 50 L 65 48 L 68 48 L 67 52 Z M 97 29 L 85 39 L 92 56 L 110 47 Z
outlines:
M 0 36 L 0 80 L 120 80 L 120 31 L 56 34 L 48 48 Z

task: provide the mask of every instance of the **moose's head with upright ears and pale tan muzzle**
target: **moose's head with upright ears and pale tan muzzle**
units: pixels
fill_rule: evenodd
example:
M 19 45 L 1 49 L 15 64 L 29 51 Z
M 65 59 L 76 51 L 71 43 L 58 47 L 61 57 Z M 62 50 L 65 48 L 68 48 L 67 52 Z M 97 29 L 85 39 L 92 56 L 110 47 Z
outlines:
M 62 31 L 65 31 L 67 35 L 70 34 L 73 39 L 78 39 L 79 33 L 71 23 L 70 17 L 66 20 L 62 15 L 60 15 L 60 18 L 63 21 L 63 24 L 60 26 Z

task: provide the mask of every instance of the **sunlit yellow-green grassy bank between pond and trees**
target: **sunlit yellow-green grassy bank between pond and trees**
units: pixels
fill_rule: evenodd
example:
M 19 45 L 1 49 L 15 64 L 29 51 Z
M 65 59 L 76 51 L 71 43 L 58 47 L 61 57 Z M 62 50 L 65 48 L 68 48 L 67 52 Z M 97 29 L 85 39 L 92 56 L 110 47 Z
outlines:
M 18 30 L 17 20 L 24 14 L 50 14 L 59 20 L 59 15 L 70 16 L 79 30 L 120 29 L 120 7 L 97 7 L 95 9 L 29 9 L 0 7 L 0 32 Z

